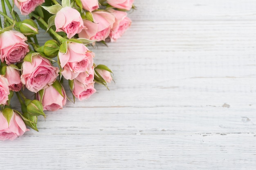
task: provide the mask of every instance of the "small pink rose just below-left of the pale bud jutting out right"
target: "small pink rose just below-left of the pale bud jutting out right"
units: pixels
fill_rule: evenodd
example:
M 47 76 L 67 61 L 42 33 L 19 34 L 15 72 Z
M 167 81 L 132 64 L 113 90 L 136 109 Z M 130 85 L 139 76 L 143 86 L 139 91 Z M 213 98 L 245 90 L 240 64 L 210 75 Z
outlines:
M 89 98 L 95 92 L 96 89 L 94 89 L 94 83 L 84 85 L 83 83 L 74 79 L 74 89 L 72 90 L 72 93 L 76 98 L 78 98 L 79 101 Z

